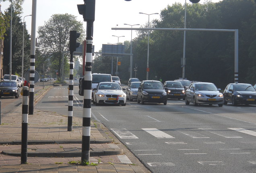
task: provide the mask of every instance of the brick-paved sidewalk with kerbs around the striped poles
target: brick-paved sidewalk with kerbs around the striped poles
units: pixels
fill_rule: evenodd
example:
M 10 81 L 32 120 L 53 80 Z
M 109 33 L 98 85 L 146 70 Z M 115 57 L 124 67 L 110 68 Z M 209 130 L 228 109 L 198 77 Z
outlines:
M 81 162 L 82 118 L 73 117 L 70 132 L 68 117 L 37 109 L 28 118 L 28 164 L 21 164 L 21 109 L 1 117 L 0 173 L 149 173 L 136 159 L 132 163 L 97 121 L 91 121 L 90 164 L 70 164 Z

